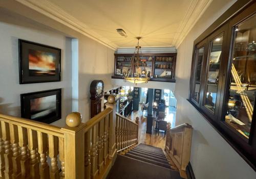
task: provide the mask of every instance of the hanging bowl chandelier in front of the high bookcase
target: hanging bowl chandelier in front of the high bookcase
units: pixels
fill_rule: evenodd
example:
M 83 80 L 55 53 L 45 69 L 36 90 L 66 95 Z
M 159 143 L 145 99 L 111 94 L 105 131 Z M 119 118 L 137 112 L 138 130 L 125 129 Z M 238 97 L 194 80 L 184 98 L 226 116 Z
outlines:
M 147 77 L 145 59 L 142 57 L 141 46 L 139 46 L 139 40 L 141 37 L 137 37 L 138 45 L 135 47 L 133 57 L 131 59 L 131 67 L 129 72 L 124 76 L 124 82 L 131 82 L 137 85 L 138 83 L 147 83 L 149 78 Z M 144 69 L 142 69 L 144 67 Z

